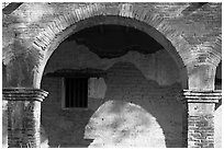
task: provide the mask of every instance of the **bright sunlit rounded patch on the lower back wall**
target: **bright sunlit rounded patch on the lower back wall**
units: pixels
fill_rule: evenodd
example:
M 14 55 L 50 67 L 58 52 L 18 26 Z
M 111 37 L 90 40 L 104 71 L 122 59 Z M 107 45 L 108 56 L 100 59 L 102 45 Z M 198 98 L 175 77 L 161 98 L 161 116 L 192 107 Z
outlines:
M 166 147 L 156 118 L 141 106 L 122 101 L 101 105 L 86 126 L 85 138 L 94 139 L 90 148 Z

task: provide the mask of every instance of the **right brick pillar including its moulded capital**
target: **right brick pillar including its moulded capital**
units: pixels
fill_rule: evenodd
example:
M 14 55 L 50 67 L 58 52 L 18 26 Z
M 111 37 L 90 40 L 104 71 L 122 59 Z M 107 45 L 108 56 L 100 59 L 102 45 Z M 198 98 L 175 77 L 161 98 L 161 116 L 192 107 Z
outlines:
M 214 147 L 214 111 L 221 90 L 183 90 L 188 107 L 188 148 Z

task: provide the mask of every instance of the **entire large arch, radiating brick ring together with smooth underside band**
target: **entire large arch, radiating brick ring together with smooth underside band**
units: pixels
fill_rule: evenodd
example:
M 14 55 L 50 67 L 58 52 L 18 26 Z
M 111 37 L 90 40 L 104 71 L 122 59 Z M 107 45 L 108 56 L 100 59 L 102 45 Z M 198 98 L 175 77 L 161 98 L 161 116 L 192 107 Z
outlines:
M 181 33 L 169 25 L 158 13 L 139 9 L 132 3 L 112 7 L 93 3 L 59 15 L 36 36 L 33 47 L 42 51 L 44 59 L 40 65 L 38 73 L 34 76 L 34 82 L 41 83 L 47 60 L 63 41 L 85 27 L 99 24 L 120 24 L 147 33 L 172 56 L 187 78 L 184 66 L 186 60 L 190 57 L 191 46 L 182 38 Z

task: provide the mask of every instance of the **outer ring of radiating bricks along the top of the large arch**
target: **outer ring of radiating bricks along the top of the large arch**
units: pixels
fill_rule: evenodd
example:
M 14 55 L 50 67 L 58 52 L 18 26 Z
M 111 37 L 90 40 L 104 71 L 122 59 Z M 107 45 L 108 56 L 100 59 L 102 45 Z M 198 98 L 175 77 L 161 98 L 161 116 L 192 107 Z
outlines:
M 189 48 L 189 44 L 183 38 L 181 38 L 180 33 L 171 27 L 167 20 L 161 18 L 159 13 L 155 13 L 150 9 L 139 9 L 138 5 L 133 3 L 120 3 L 116 5 L 92 3 L 74 9 L 70 12 L 54 19 L 54 21 L 52 21 L 44 28 L 44 31 L 40 33 L 38 36 L 36 36 L 34 45 L 35 47 L 41 47 L 43 50 L 47 50 L 52 43 L 54 43 L 55 38 L 57 38 L 57 36 L 60 35 L 64 31 L 68 30 L 82 20 L 102 15 L 133 19 L 154 27 L 168 41 L 170 41 L 178 53 L 176 55 L 179 55 L 183 64 L 186 64 L 184 56 L 182 56 L 181 53 L 179 54 L 179 51 Z

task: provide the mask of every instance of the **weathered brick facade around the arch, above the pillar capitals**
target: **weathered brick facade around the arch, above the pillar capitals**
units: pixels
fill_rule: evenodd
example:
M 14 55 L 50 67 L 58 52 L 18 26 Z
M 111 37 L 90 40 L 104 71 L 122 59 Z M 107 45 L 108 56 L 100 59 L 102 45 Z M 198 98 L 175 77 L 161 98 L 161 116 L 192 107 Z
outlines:
M 180 57 L 177 62 L 187 66 L 189 79 L 192 79 L 189 89 L 214 90 L 215 68 L 222 56 L 222 4 L 210 2 L 195 10 L 188 9 L 190 4 L 23 3 L 11 14 L 2 15 L 4 85 L 40 88 L 51 54 L 67 36 L 78 32 L 77 26 L 82 21 L 105 16 L 109 21 L 103 23 L 111 23 L 109 15 L 113 15 L 120 20 L 114 24 L 128 19 L 128 24 L 157 39 L 176 61 Z M 144 30 L 143 24 L 152 28 Z M 205 74 L 203 79 L 200 73 Z M 194 77 L 199 79 L 195 86 L 191 84 Z

